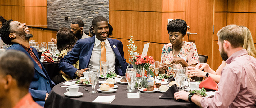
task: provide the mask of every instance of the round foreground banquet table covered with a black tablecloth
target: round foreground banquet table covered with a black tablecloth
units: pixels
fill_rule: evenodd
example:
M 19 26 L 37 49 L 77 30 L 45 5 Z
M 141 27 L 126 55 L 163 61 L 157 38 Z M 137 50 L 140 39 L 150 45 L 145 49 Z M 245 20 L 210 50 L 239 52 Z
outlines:
M 71 81 L 76 81 L 71 80 Z M 103 80 L 100 79 L 99 80 Z M 64 82 L 63 82 L 64 83 Z M 158 96 L 162 96 L 163 93 L 154 92 L 154 93 L 143 93 L 140 95 L 140 98 L 127 98 L 127 93 L 136 93 L 137 89 L 134 92 L 127 92 L 125 90 L 127 84 L 119 84 L 116 92 L 114 93 L 89 93 L 92 91 L 92 86 L 86 86 L 89 91 L 85 91 L 83 87 L 79 88 L 79 92 L 82 92 L 83 95 L 77 98 L 69 98 L 64 95 L 66 92 L 66 87 L 60 87 L 62 83 L 56 85 L 51 93 L 49 94 L 44 107 L 46 108 L 195 108 L 198 107 L 192 102 L 177 102 L 176 100 L 171 99 L 159 99 Z M 99 83 L 95 86 L 95 91 L 99 88 Z M 92 102 L 98 96 L 109 96 L 115 95 L 115 99 L 111 103 L 94 103 Z

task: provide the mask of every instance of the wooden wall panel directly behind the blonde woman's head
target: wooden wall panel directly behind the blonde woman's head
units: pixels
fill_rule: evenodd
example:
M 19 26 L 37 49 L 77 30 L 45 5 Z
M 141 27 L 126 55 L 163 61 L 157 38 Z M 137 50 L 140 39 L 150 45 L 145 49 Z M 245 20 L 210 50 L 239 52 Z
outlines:
M 256 13 L 227 13 L 227 25 L 236 24 L 246 26 L 252 33 L 253 41 L 256 42 Z

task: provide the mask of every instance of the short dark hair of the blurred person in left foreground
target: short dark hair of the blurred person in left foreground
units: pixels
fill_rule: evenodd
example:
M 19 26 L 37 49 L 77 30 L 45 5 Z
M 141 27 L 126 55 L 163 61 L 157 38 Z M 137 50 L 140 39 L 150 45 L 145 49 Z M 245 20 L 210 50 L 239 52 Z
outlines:
M 18 87 L 28 89 L 34 76 L 34 64 L 24 52 L 7 50 L 0 55 L 0 74 L 11 75 Z

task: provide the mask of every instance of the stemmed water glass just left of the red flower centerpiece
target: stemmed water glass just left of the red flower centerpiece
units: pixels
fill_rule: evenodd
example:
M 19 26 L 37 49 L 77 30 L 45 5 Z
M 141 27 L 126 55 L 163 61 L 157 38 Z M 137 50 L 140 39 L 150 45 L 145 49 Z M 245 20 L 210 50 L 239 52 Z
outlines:
M 130 86 L 130 88 L 126 91 L 128 92 L 133 92 L 134 90 L 131 89 L 131 85 L 133 83 L 133 78 L 134 78 L 134 73 L 136 72 L 136 69 L 133 69 L 133 68 L 127 68 L 126 69 L 126 73 L 125 73 L 125 77 L 126 77 L 126 80 L 128 82 L 128 85 Z

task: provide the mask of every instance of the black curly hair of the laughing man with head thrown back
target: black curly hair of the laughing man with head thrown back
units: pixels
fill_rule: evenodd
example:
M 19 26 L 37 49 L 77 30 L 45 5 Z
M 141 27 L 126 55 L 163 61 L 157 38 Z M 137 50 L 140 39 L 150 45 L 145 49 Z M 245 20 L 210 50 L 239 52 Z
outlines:
M 12 32 L 12 29 L 11 29 L 11 26 L 10 26 L 10 23 L 12 21 L 13 21 L 12 19 L 9 19 L 5 23 L 3 23 L 2 28 L 0 28 L 0 36 L 1 36 L 2 41 L 5 44 L 13 44 L 11 42 L 11 40 L 13 40 L 13 39 L 11 39 L 9 37 L 9 34 Z

